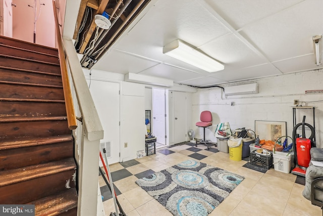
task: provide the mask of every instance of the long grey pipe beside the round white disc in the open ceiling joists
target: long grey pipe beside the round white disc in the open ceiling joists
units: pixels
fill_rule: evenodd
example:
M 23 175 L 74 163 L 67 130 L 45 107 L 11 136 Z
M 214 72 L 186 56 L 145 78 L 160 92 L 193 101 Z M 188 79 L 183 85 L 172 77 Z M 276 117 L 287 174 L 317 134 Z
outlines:
M 112 19 L 113 15 L 115 15 L 117 9 L 119 8 L 120 4 L 123 2 L 123 0 L 120 0 L 118 2 L 118 4 L 116 5 L 113 13 L 111 14 L 110 16 L 110 20 Z M 95 49 L 97 48 L 97 46 L 100 44 L 100 42 L 103 40 L 103 38 L 106 36 L 106 34 L 110 31 L 110 29 L 114 26 L 114 24 L 117 22 L 117 20 L 119 19 L 119 17 L 122 15 L 122 13 L 127 9 L 127 7 L 130 5 L 130 3 L 132 2 L 132 0 L 128 0 L 124 6 L 122 7 L 122 9 L 118 12 L 118 15 L 117 15 L 117 18 L 114 19 L 111 23 L 111 26 L 109 29 L 102 29 L 100 32 L 99 32 L 99 38 L 95 41 L 95 44 L 94 44 L 94 47 L 93 49 L 87 54 L 87 55 L 84 55 L 82 60 L 81 60 L 81 64 L 84 63 L 84 61 L 87 59 L 86 57 L 87 56 L 91 56 L 92 53 L 95 51 Z M 119 4 L 120 3 L 120 4 Z M 103 32 L 104 31 L 104 32 Z M 103 33 L 102 33 L 103 32 Z

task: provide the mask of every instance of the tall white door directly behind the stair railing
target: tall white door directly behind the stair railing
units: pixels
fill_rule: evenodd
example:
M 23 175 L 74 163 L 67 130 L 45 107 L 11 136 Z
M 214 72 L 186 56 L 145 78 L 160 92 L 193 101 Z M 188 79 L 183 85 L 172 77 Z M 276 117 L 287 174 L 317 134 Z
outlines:
M 106 143 L 108 163 L 117 163 L 120 161 L 119 83 L 92 80 L 90 92 L 104 130 L 100 143 Z

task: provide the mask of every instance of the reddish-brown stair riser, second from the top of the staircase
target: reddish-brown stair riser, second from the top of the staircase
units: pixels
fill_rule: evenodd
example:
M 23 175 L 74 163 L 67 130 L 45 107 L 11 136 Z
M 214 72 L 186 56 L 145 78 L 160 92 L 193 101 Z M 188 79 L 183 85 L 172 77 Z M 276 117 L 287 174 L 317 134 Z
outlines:
M 19 50 L 10 47 L 1 47 L 0 46 L 0 54 L 7 56 L 17 56 L 20 58 L 60 64 L 58 56 L 48 56 L 40 53 L 33 53 L 26 50 Z

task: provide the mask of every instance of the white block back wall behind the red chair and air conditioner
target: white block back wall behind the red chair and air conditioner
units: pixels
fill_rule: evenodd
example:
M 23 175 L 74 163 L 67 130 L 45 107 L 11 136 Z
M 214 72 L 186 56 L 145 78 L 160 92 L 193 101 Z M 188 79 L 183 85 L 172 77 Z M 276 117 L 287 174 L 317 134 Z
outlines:
M 192 128 L 196 137 L 202 137 L 202 131 L 194 128 L 194 122 L 198 121 L 199 114 L 203 110 L 210 110 L 213 117 L 213 125 L 206 129 L 206 137 L 217 142 L 214 130 L 219 122 L 228 121 L 234 132 L 236 128 L 246 127 L 255 129 L 255 120 L 286 121 L 287 135 L 292 136 L 294 99 L 306 102 L 303 106 L 315 107 L 315 135 L 318 147 L 322 141 L 323 126 L 323 94 L 305 94 L 306 90 L 322 90 L 323 70 L 292 73 L 261 79 L 248 80 L 230 85 L 247 84 L 257 82 L 259 93 L 254 95 L 225 96 L 222 89 L 200 89 L 193 93 L 192 98 Z M 229 84 L 228 84 L 229 85 Z M 227 85 L 227 86 L 228 86 Z M 226 87 L 226 85 L 222 85 Z M 235 105 L 231 106 L 231 102 Z M 306 115 L 306 123 L 313 125 L 312 109 L 296 110 L 296 123 L 302 121 Z M 260 138 L 261 139 L 261 138 Z M 290 141 L 290 140 L 289 140 Z

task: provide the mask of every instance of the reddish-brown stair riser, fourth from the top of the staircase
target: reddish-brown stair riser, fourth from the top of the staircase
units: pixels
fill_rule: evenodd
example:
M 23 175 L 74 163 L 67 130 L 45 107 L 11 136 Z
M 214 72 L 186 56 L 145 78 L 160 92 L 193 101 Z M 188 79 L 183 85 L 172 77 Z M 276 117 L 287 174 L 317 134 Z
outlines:
M 7 70 L 3 68 L 0 68 L 0 80 L 9 82 L 56 85 L 59 87 L 63 86 L 61 76 Z

